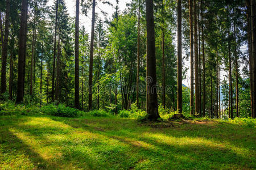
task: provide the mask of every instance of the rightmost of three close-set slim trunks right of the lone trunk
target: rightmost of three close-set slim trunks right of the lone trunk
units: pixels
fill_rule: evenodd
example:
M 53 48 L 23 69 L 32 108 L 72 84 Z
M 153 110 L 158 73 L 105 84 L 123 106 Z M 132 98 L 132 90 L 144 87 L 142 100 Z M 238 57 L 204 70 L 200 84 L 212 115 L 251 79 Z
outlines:
M 205 53 L 204 53 L 204 25 L 203 25 L 203 0 L 201 0 L 201 32 L 202 32 L 202 54 L 203 54 L 203 116 L 205 116 Z

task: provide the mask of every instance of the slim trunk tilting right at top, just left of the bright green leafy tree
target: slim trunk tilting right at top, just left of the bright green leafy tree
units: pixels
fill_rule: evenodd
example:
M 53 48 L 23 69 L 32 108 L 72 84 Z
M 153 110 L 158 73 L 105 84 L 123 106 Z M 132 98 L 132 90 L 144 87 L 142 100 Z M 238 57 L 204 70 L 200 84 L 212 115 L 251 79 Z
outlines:
M 89 102 L 88 102 L 89 111 L 92 110 L 94 24 L 95 24 L 95 0 L 93 0 L 93 6 L 92 6 L 92 31 L 90 34 Z

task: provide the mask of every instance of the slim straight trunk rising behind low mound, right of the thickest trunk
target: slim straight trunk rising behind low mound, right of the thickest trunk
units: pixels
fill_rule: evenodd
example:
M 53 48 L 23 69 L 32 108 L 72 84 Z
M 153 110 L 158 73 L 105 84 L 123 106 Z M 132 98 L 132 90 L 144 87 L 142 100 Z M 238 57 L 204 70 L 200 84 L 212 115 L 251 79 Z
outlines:
M 177 0 L 177 111 L 182 113 L 181 0 Z

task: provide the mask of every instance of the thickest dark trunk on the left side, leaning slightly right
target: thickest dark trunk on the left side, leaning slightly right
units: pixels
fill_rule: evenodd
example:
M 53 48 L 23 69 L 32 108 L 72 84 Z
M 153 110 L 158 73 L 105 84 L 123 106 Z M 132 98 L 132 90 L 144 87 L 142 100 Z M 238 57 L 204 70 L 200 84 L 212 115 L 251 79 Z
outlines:
M 24 66 L 26 59 L 26 43 L 27 43 L 27 0 L 22 0 L 22 12 L 20 16 L 19 28 L 19 59 L 18 59 L 18 86 L 16 103 L 23 101 L 24 92 Z

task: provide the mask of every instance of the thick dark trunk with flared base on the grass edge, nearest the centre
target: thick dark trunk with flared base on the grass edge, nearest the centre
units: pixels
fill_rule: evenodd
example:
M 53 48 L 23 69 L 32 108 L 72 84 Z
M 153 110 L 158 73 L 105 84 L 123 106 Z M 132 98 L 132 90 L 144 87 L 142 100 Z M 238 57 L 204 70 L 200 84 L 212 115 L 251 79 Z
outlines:
M 158 120 L 158 96 L 156 91 L 156 58 L 155 58 L 155 24 L 154 3 L 146 0 L 146 25 L 147 25 L 147 114 L 148 119 Z

